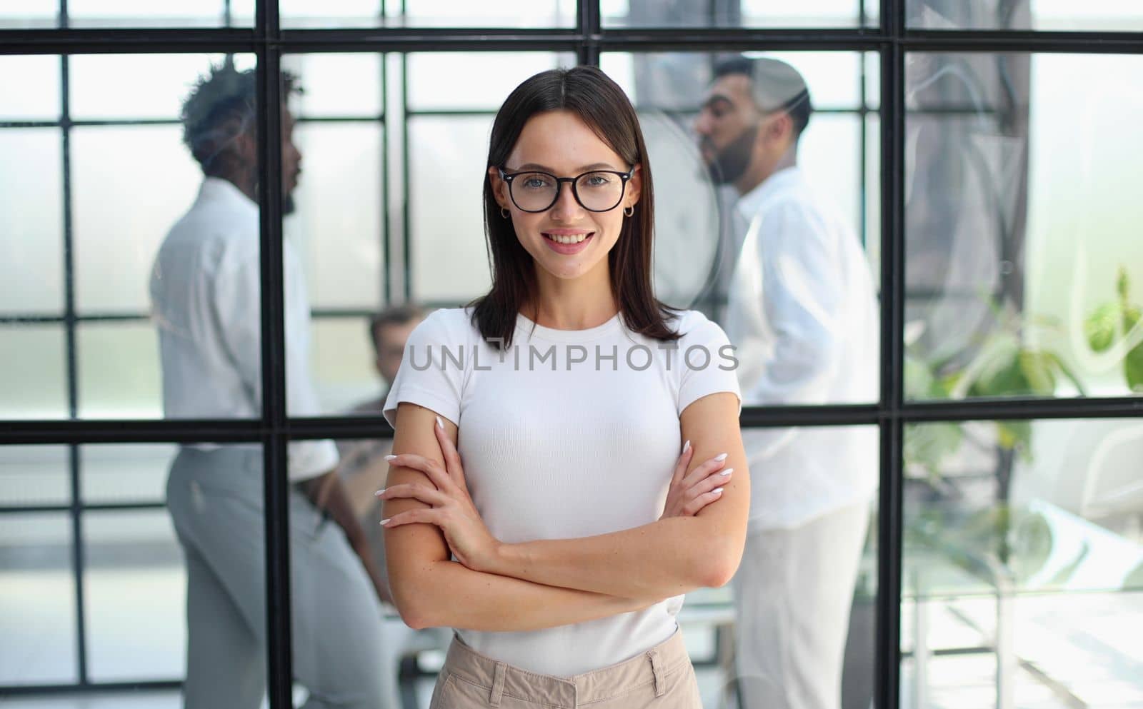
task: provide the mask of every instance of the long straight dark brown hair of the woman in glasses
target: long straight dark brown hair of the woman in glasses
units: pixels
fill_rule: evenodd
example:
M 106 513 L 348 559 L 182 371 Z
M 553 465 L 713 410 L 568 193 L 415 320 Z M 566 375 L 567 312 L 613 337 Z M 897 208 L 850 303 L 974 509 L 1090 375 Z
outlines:
M 594 66 L 553 69 L 518 86 L 493 122 L 487 167 L 503 167 L 528 120 L 547 111 L 570 111 L 628 164 L 641 166 L 642 193 L 634 213 L 623 220 L 620 239 L 607 255 L 612 291 L 626 328 L 657 340 L 679 333 L 665 320 L 678 312 L 655 298 L 652 287 L 655 206 L 647 145 L 636 110 L 623 89 Z M 491 177 L 485 170 L 485 237 L 493 272 L 491 289 L 471 301 L 472 322 L 486 341 L 512 344 L 517 314 L 537 295 L 531 255 L 520 244 L 510 219 L 501 217 Z

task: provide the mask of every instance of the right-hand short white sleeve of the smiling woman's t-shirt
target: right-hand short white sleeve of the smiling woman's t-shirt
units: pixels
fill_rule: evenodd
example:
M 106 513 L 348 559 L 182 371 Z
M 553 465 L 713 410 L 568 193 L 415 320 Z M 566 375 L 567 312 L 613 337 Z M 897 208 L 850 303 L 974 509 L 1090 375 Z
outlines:
M 679 332 L 682 335 L 679 339 L 679 416 L 695 401 L 718 392 L 734 394 L 741 414 L 738 360 L 726 332 L 698 311 L 682 315 Z

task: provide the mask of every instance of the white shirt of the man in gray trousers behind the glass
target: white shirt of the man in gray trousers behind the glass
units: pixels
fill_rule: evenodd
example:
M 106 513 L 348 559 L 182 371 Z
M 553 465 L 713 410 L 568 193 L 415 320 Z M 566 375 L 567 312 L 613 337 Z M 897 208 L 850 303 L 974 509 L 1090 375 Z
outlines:
M 207 177 L 171 227 L 151 272 L 167 418 L 256 418 L 262 410 L 258 206 Z M 286 398 L 290 416 L 321 413 L 310 382 L 310 306 L 297 253 L 282 243 Z M 216 448 L 209 444 L 199 448 Z M 289 445 L 291 482 L 337 465 L 331 441 Z

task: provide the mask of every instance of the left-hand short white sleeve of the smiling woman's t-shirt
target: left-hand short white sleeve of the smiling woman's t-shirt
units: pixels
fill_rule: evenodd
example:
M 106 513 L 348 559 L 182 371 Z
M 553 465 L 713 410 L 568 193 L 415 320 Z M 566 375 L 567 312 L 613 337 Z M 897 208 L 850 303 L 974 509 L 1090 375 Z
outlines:
M 397 428 L 397 405 L 401 402 L 458 422 L 465 366 L 472 357 L 465 317 L 461 308 L 434 311 L 409 335 L 382 410 L 390 426 Z

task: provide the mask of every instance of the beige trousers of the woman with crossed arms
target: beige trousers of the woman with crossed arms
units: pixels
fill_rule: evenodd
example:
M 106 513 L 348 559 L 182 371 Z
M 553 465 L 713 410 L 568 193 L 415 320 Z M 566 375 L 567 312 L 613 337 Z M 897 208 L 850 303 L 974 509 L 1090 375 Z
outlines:
M 429 709 L 702 709 L 682 633 L 618 664 L 537 675 L 478 653 L 454 636 Z

